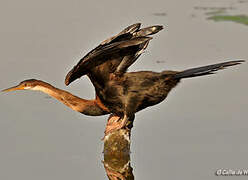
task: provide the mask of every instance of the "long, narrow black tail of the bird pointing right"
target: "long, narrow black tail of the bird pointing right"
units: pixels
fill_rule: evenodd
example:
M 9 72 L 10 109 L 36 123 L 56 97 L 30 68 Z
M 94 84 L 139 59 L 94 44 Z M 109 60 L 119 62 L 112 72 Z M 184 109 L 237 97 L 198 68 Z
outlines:
M 245 62 L 244 60 L 238 60 L 238 61 L 228 61 L 224 63 L 218 63 L 218 64 L 212 64 L 208 66 L 202 66 L 198 68 L 192 68 L 187 69 L 181 72 L 178 72 L 174 78 L 181 79 L 181 78 L 191 78 L 196 76 L 204 76 L 204 75 L 210 75 L 215 74 L 215 71 L 225 69 L 228 66 L 234 66 L 241 64 L 242 62 Z

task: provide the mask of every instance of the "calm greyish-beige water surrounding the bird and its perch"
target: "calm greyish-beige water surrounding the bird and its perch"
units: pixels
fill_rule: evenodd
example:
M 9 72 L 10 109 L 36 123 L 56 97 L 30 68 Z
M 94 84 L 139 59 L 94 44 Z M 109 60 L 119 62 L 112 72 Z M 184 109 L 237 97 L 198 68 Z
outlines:
M 93 99 L 87 77 L 67 72 L 126 26 L 161 24 L 129 70 L 183 70 L 248 60 L 248 0 L 1 0 L 0 89 L 30 78 Z M 136 179 L 224 179 L 248 169 L 247 62 L 183 80 L 163 103 L 136 115 Z M 0 93 L 0 179 L 107 179 L 102 150 L 108 116 L 74 112 L 39 92 Z M 232 177 L 246 179 L 247 177 Z

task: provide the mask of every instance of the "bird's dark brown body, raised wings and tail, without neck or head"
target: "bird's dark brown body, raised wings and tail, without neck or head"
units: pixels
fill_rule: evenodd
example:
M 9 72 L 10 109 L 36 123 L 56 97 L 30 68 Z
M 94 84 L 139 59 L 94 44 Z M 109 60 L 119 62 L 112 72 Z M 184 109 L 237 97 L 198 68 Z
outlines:
M 130 26 L 130 31 L 104 41 L 82 58 L 65 79 L 65 84 L 69 85 L 87 74 L 101 102 L 111 113 L 122 117 L 120 128 L 126 126 L 128 121 L 132 122 L 137 111 L 163 101 L 181 79 L 210 75 L 243 62 L 229 61 L 185 71 L 128 73 L 127 68 L 146 48 L 150 40 L 148 35 L 153 34 L 151 30 L 157 32 L 162 29 L 161 26 L 153 26 L 147 31 L 146 28 L 140 30 L 139 26 Z

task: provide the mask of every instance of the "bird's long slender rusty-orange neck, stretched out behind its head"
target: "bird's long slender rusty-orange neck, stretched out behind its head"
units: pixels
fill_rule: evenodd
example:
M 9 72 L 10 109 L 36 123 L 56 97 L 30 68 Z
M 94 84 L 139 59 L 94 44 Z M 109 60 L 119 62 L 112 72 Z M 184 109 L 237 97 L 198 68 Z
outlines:
M 78 111 L 85 115 L 100 116 L 109 113 L 108 109 L 102 105 L 98 98 L 94 100 L 82 99 L 67 91 L 55 88 L 43 81 L 39 85 L 35 86 L 32 90 L 42 91 L 54 97 L 74 111 Z

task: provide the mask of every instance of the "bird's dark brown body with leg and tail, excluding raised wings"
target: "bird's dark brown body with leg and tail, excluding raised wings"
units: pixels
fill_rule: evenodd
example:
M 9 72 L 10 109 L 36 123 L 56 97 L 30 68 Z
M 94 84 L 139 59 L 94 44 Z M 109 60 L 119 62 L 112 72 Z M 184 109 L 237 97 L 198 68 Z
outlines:
M 123 117 L 123 126 L 133 121 L 135 112 L 162 102 L 181 79 L 213 74 L 215 71 L 243 61 L 229 61 L 185 71 L 130 72 L 96 89 L 102 103 L 110 112 Z

